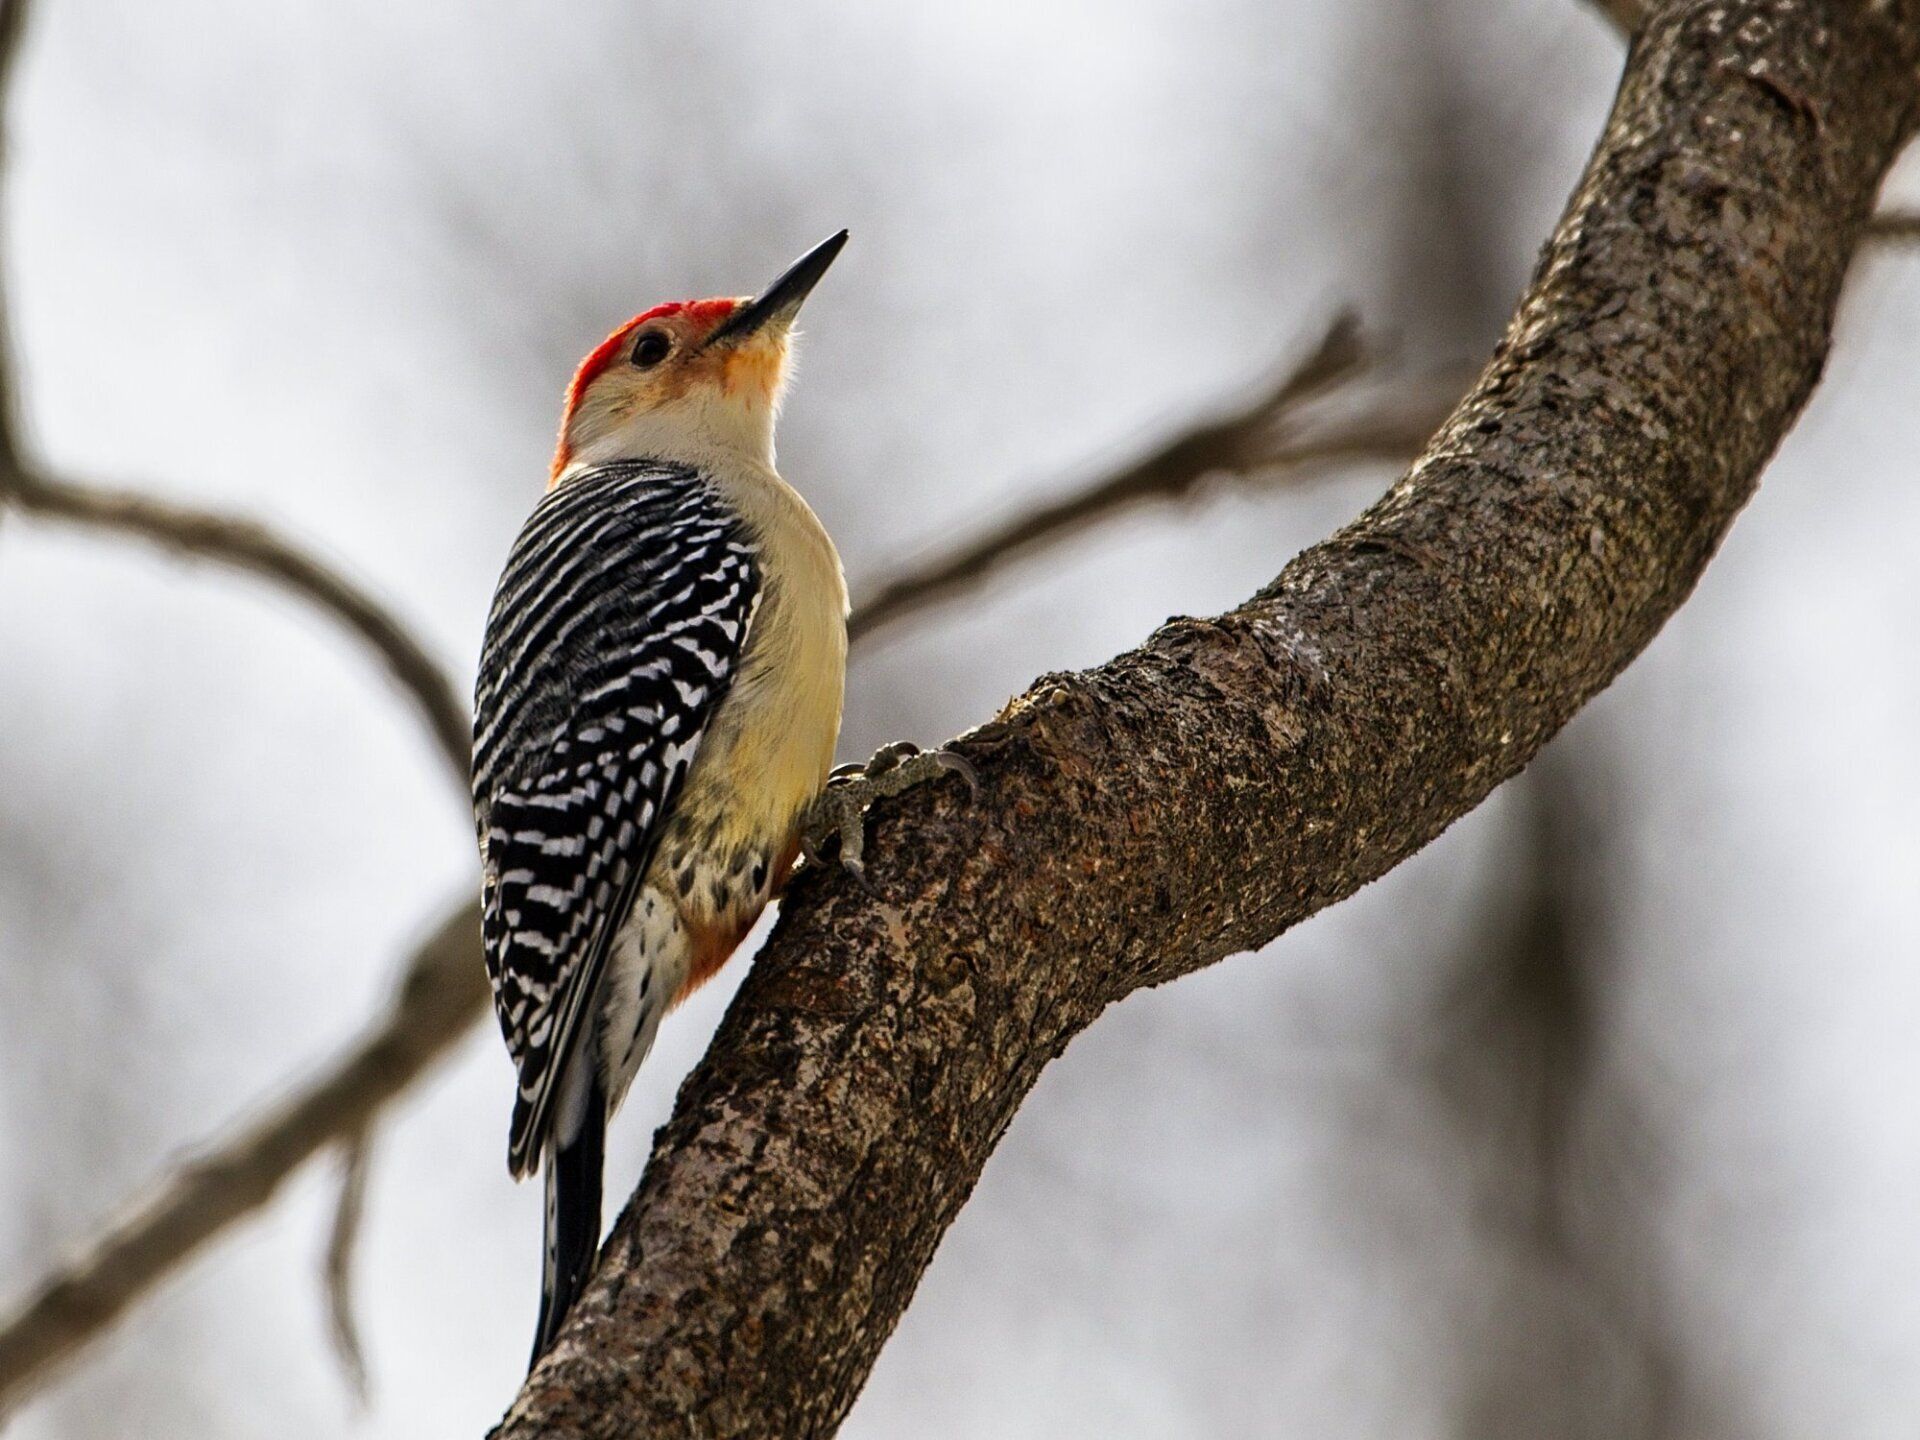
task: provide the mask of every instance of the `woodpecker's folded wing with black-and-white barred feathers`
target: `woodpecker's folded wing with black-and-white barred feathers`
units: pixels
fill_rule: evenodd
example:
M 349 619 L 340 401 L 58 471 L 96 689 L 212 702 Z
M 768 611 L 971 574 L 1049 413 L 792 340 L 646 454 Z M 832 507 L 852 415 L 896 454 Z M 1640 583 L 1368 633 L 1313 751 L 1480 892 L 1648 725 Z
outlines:
M 695 470 L 609 465 L 515 541 L 474 697 L 493 1008 L 520 1071 L 507 1164 L 534 1169 L 607 952 L 733 684 L 760 593 L 751 536 Z

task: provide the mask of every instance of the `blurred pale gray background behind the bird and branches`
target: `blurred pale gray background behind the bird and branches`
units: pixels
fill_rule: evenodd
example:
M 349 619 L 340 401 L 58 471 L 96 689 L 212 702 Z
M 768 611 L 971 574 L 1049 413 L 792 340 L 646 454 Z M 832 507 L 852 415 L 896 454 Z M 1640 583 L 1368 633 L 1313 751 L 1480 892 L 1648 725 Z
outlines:
M 31 436 L 309 538 L 465 682 L 578 355 L 847 225 L 781 463 L 858 588 L 1342 303 L 1409 369 L 1482 357 L 1620 54 L 1578 0 L 46 0 L 6 204 Z M 1916 365 L 1920 253 L 1868 255 L 1647 657 L 1413 864 L 1077 1041 L 849 1436 L 1920 1432 Z M 889 632 L 845 755 L 1231 605 L 1388 478 L 1139 515 Z M 0 1288 L 342 1043 L 472 872 L 313 614 L 0 524 Z M 741 970 L 666 1025 L 611 1206 Z M 476 1031 L 380 1135 L 371 1407 L 321 1165 L 13 1432 L 480 1434 L 538 1288 L 509 1085 Z

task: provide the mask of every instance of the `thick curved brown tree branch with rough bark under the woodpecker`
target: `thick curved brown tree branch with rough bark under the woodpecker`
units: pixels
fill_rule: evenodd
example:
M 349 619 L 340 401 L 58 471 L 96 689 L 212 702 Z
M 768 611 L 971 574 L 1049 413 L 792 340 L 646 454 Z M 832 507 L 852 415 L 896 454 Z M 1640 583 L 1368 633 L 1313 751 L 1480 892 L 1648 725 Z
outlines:
M 1043 678 L 804 876 L 499 1436 L 831 1434 L 1043 1066 L 1515 774 L 1686 599 L 1822 367 L 1920 0 L 1659 6 L 1505 340 L 1260 595 Z M 950 787 L 958 789 L 958 787 Z

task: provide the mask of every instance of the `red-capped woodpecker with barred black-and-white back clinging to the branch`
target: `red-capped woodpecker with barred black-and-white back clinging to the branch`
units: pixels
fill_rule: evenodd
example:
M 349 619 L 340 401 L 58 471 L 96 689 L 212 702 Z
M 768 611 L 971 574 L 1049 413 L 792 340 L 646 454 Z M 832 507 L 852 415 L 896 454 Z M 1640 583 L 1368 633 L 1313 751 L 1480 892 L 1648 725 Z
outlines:
M 588 353 L 488 612 L 482 933 L 518 1077 L 507 1167 L 545 1171 L 530 1365 L 591 1271 L 607 1121 L 660 1018 L 733 954 L 803 839 L 837 839 L 862 874 L 874 797 L 973 783 L 912 745 L 833 768 L 847 580 L 774 468 L 774 420 L 795 317 L 845 244 L 758 298 L 647 309 Z

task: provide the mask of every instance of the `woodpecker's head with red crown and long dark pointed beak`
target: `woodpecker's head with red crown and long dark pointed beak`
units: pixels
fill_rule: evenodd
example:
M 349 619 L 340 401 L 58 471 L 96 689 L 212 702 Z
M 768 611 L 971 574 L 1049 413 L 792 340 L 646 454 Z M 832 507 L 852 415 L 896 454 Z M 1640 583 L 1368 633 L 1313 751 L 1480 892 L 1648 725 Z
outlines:
M 793 317 L 847 232 L 814 246 L 756 300 L 689 300 L 636 315 L 566 388 L 549 488 L 607 461 L 774 461 Z

